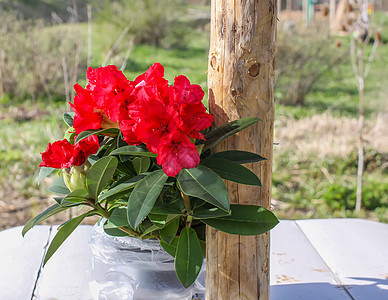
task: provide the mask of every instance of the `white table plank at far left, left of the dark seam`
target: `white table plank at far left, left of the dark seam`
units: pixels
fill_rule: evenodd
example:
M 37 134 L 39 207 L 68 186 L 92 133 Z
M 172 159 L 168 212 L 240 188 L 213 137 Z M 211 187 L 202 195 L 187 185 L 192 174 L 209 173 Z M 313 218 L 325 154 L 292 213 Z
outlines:
M 22 228 L 0 231 L 0 298 L 31 299 L 49 238 L 49 226 L 36 226 L 22 237 Z

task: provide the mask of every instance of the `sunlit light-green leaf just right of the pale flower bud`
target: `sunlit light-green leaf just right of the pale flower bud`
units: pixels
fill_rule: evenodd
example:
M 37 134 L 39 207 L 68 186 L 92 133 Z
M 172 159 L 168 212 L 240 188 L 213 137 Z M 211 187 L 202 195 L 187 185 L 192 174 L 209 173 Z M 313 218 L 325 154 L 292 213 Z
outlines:
M 99 159 L 90 167 L 86 174 L 86 186 L 89 194 L 93 199 L 97 199 L 100 192 L 111 180 L 117 168 L 117 158 L 107 156 Z

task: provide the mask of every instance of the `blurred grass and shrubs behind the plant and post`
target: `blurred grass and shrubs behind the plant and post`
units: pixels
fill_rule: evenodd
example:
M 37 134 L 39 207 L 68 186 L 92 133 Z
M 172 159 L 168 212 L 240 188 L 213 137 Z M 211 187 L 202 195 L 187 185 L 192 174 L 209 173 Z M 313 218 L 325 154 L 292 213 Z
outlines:
M 30 12 L 29 2 L 0 1 L 4 8 L 0 15 L 0 228 L 23 224 L 41 206 L 52 203 L 46 192 L 50 178 L 41 188 L 34 178 L 39 152 L 49 141 L 62 138 L 64 130 L 60 119 L 68 105 L 63 61 L 69 88 L 75 82 L 85 84 L 81 74 L 87 66 L 87 1 L 76 2 L 77 14 L 73 1 L 33 1 L 45 8 L 39 15 L 36 10 Z M 168 80 L 184 74 L 206 90 L 210 20 L 206 2 L 163 0 L 159 3 L 164 6 L 155 9 L 153 1 L 114 1 L 110 7 L 104 1 L 90 2 L 92 66 L 100 66 L 116 43 L 108 63 L 120 67 L 125 61 L 128 78 L 159 61 Z M 53 11 L 62 23 L 52 18 Z M 157 17 L 151 20 L 150 16 Z M 373 15 L 372 23 L 379 24 L 381 17 L 381 12 Z M 311 32 L 303 30 L 296 18 L 291 33 L 284 32 L 283 26 L 289 16 L 281 14 L 279 19 L 275 213 L 281 218 L 366 217 L 388 222 L 387 44 L 379 46 L 366 81 L 367 171 L 364 210 L 356 215 L 358 94 L 349 63 L 349 39 L 329 38 L 324 30 L 327 19 L 317 22 Z M 130 29 L 117 43 L 128 24 Z M 155 24 L 163 26 L 155 31 Z M 381 33 L 383 41 L 388 40 L 387 24 Z M 125 60 L 131 40 L 134 45 Z M 368 45 L 366 52 L 370 49 Z M 59 221 L 60 216 L 52 220 Z

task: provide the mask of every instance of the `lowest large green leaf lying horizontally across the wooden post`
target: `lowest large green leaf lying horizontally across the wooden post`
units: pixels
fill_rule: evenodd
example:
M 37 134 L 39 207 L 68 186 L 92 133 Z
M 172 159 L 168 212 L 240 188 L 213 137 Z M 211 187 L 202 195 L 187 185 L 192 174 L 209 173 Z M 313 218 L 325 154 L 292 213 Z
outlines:
M 279 223 L 272 212 L 261 206 L 231 205 L 230 208 L 230 216 L 202 221 L 215 229 L 239 235 L 259 235 Z

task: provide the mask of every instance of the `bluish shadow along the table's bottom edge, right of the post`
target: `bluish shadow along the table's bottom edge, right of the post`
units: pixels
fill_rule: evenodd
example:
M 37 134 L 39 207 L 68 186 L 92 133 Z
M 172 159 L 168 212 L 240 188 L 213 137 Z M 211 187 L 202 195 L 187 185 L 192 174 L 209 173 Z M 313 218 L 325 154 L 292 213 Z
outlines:
M 384 276 L 388 276 L 388 274 Z M 271 300 L 388 299 L 388 278 L 379 279 L 349 277 L 349 279 L 360 280 L 360 284 L 341 286 L 323 282 L 315 282 L 274 285 L 271 286 Z

